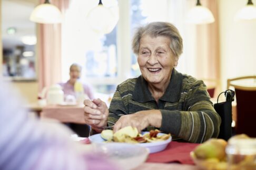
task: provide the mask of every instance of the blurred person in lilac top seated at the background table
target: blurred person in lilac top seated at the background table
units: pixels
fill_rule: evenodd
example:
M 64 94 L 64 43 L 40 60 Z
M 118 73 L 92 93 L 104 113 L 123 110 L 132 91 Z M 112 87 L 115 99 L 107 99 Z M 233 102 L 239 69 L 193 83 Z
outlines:
M 86 83 L 79 81 L 82 67 L 77 63 L 70 66 L 70 79 L 65 83 L 59 83 L 64 92 L 65 102 L 77 104 L 83 103 L 84 99 L 94 99 L 93 88 Z M 71 113 L 72 114 L 72 113 Z M 66 123 L 77 135 L 88 137 L 91 127 L 87 124 Z

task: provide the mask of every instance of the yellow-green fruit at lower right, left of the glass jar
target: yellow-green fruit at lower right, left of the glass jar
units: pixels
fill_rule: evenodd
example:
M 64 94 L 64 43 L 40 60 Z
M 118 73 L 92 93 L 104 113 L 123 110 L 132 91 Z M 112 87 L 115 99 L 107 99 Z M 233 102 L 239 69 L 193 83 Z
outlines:
M 222 139 L 210 139 L 200 145 L 198 145 L 194 154 L 196 158 L 205 160 L 209 158 L 217 158 L 219 161 L 225 160 L 225 146 L 227 142 Z

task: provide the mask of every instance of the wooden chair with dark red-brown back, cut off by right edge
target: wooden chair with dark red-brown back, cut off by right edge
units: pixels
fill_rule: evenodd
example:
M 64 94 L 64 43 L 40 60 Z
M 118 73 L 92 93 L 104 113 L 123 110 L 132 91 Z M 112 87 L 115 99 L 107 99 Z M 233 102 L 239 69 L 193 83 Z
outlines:
M 237 99 L 235 133 L 256 137 L 256 76 L 228 79 L 227 86 L 234 88 Z

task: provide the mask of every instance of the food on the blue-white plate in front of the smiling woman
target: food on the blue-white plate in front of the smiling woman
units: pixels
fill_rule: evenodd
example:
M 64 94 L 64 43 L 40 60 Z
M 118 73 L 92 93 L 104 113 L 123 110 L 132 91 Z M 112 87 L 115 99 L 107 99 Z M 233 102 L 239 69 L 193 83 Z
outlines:
M 113 134 L 112 130 L 103 130 L 101 137 L 107 142 L 125 142 L 125 143 L 146 143 L 168 140 L 171 134 L 158 135 L 159 130 L 151 130 L 144 135 L 139 134 L 136 127 L 126 126 Z

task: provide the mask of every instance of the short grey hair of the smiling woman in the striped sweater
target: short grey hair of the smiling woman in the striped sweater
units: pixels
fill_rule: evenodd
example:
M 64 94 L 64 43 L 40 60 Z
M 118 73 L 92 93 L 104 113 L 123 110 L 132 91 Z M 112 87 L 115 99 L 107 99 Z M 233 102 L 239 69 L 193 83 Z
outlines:
M 134 54 L 139 54 L 140 40 L 144 35 L 151 37 L 165 36 L 171 40 L 170 48 L 173 54 L 179 58 L 183 51 L 183 40 L 179 30 L 171 23 L 152 22 L 136 29 L 132 39 L 132 49 Z

